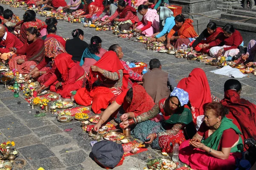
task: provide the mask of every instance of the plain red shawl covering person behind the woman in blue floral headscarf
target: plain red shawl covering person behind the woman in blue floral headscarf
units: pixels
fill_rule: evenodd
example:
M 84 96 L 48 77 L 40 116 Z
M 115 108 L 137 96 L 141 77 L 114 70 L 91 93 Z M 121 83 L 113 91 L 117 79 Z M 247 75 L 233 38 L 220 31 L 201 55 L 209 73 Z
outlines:
M 193 69 L 189 77 L 180 80 L 177 88 L 189 93 L 189 101 L 195 107 L 195 116 L 204 115 L 204 104 L 212 102 L 209 83 L 204 71 L 201 68 Z

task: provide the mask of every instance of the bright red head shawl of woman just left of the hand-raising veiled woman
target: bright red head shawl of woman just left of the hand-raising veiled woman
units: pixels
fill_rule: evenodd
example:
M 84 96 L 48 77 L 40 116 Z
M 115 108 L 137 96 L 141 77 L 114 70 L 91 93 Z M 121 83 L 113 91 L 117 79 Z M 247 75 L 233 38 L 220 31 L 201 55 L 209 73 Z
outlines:
M 68 79 L 68 70 L 72 68 L 75 62 L 71 59 L 72 55 L 67 53 L 58 54 L 58 56 L 54 59 L 55 65 L 58 68 L 58 71 L 61 74 L 61 78 L 64 82 Z

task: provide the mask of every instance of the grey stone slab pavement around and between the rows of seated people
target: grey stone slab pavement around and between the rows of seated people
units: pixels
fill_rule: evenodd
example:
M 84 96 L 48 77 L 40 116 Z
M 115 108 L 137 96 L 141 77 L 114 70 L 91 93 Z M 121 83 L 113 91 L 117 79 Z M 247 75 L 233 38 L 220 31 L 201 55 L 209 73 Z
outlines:
M 9 6 L 3 5 L 9 8 Z M 22 18 L 25 11 L 21 8 L 10 8 L 17 16 Z M 45 20 L 45 17 L 38 17 Z M 187 77 L 193 68 L 202 68 L 207 75 L 212 94 L 223 98 L 224 82 L 229 77 L 216 75 L 209 71 L 215 70 L 213 66 L 205 65 L 200 62 L 189 62 L 186 59 L 177 59 L 169 54 L 160 54 L 154 51 L 147 51 L 144 44 L 123 38 L 117 38 L 111 31 L 95 31 L 93 28 L 83 28 L 79 23 L 67 23 L 58 21 L 58 34 L 71 38 L 73 29 L 81 28 L 84 30 L 84 39 L 87 43 L 90 38 L 97 35 L 102 38 L 102 46 L 105 49 L 114 43 L 122 46 L 125 54 L 125 61 L 148 62 L 150 59 L 160 59 L 162 69 L 172 75 L 178 82 Z M 242 83 L 241 96 L 250 102 L 256 103 L 256 84 L 255 77 L 250 74 L 248 77 L 239 79 Z M 17 102 L 21 102 L 20 105 Z M 27 161 L 23 170 L 37 170 L 44 167 L 45 170 L 101 170 L 90 158 L 90 137 L 83 133 L 80 122 L 72 121 L 64 124 L 57 122 L 51 113 L 42 118 L 34 117 L 37 109 L 31 109 L 29 104 L 23 99 L 23 95 L 14 98 L 13 92 L 8 91 L 0 85 L 0 142 L 7 140 L 15 141 L 19 158 Z M 64 132 L 65 129 L 71 131 Z M 139 153 L 134 156 L 125 157 L 122 166 L 114 170 L 140 170 L 145 167 L 145 160 L 149 156 L 157 156 L 159 151 L 148 149 L 147 152 Z M 17 170 L 17 169 L 15 169 Z

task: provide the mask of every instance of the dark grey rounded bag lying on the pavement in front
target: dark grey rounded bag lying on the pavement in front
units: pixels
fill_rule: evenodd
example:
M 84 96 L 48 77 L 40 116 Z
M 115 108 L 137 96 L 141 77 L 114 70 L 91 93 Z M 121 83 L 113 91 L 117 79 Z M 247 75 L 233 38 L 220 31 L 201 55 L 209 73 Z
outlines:
M 114 168 L 122 159 L 124 150 L 122 144 L 112 141 L 100 141 L 93 145 L 94 158 L 104 167 Z

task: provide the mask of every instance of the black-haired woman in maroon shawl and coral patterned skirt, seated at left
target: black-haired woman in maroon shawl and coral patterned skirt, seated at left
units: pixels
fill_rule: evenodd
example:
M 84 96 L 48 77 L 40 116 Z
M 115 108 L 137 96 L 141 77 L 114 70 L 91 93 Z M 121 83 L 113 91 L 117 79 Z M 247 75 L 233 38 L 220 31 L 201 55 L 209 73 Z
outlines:
M 44 40 L 39 38 L 40 32 L 35 27 L 26 31 L 27 42 L 20 49 L 10 48 L 17 55 L 9 58 L 10 69 L 17 69 L 20 74 L 27 74 L 31 65 L 37 65 L 45 56 Z

